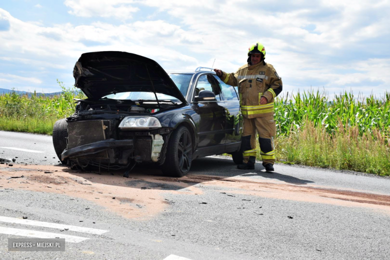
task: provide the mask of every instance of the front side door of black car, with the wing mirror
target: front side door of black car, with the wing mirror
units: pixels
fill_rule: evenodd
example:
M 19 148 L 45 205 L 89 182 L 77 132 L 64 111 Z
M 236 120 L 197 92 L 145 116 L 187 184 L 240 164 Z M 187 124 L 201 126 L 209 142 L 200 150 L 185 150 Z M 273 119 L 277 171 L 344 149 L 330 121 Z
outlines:
M 226 108 L 220 95 L 220 87 L 212 74 L 201 74 L 196 81 L 194 96 L 202 90 L 212 91 L 215 100 L 193 102 L 199 115 L 197 125 L 198 151 L 201 154 L 217 154 L 224 149 L 226 136 Z

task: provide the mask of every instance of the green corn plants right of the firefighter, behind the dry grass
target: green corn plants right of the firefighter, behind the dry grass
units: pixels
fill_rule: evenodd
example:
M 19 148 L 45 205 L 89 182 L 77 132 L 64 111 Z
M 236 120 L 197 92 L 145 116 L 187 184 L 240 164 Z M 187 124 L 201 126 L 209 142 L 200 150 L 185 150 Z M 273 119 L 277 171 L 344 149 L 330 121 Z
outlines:
M 390 127 L 390 92 L 382 98 L 373 95 L 355 98 L 344 92 L 328 100 L 319 91 L 288 93 L 275 102 L 275 120 L 278 135 L 296 132 L 307 119 L 314 126 L 322 125 L 328 133 L 340 130 L 340 126 L 356 126 L 359 135 L 379 129 L 388 136 Z

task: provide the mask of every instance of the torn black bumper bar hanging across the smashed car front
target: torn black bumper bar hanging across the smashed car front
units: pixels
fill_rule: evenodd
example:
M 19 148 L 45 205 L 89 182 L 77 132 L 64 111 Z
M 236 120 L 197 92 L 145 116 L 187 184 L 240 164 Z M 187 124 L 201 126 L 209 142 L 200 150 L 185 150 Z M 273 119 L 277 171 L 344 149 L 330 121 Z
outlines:
M 84 156 L 116 147 L 132 148 L 133 142 L 130 139 L 106 139 L 102 141 L 92 142 L 74 148 L 70 148 L 68 150 L 64 150 L 61 154 L 61 159 L 64 160 L 65 158 L 69 157 Z

